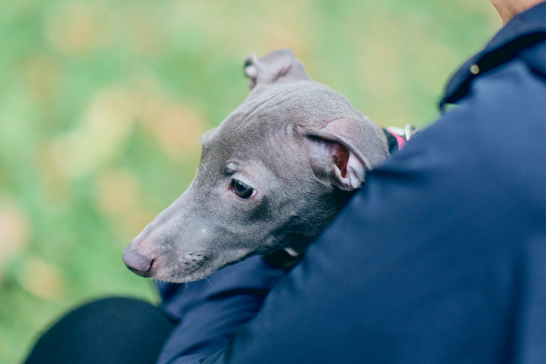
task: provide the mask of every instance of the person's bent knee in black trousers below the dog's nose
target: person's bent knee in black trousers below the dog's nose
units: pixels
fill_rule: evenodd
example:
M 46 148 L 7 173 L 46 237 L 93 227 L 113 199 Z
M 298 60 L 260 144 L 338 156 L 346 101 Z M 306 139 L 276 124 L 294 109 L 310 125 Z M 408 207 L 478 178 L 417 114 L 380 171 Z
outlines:
M 144 301 L 94 301 L 46 331 L 25 364 L 153 364 L 175 324 Z

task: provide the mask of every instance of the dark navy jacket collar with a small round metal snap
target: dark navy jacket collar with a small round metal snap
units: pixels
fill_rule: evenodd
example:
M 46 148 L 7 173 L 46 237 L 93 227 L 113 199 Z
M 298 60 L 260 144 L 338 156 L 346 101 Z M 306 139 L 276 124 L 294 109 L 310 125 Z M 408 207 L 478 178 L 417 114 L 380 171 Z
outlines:
M 470 82 L 478 74 L 496 67 L 517 53 L 546 38 L 546 2 L 535 5 L 512 18 L 491 39 L 485 49 L 468 59 L 448 82 L 446 93 L 440 101 L 443 110 L 447 103 L 454 103 L 465 96 Z

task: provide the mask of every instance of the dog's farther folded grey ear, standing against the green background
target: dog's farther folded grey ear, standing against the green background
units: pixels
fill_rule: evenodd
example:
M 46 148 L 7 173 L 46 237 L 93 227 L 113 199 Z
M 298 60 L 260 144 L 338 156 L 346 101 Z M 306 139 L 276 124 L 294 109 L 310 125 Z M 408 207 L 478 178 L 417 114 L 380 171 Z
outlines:
M 304 66 L 288 48 L 273 51 L 258 58 L 252 54 L 244 63 L 245 75 L 250 78 L 248 86 L 275 83 L 286 80 L 310 80 Z

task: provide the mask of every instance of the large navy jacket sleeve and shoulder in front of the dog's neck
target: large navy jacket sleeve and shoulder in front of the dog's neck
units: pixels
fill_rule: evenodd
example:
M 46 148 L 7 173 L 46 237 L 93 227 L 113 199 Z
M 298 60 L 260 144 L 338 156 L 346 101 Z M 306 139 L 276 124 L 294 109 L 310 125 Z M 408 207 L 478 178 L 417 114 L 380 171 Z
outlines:
M 543 362 L 545 95 L 519 59 L 474 80 L 204 363 Z

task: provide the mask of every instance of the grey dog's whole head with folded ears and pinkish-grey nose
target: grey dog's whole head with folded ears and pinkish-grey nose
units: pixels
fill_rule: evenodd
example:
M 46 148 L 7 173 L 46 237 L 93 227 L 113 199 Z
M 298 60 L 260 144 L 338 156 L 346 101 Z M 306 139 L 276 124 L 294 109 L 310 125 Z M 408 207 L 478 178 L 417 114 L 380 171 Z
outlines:
M 250 255 L 301 252 L 388 156 L 381 128 L 292 51 L 244 67 L 252 91 L 203 135 L 197 176 L 124 250 L 138 275 L 189 282 Z

